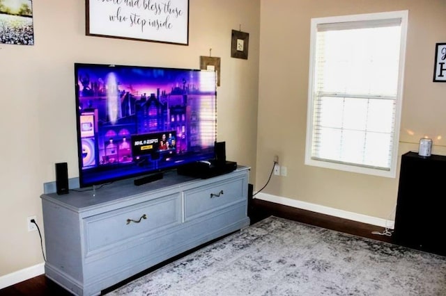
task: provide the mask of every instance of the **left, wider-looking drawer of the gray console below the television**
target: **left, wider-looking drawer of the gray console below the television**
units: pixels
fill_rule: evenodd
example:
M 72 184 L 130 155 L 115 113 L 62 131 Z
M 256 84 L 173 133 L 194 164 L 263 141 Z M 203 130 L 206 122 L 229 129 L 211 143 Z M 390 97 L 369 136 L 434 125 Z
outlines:
M 180 224 L 180 206 L 180 195 L 175 194 L 85 218 L 87 254 L 114 242 L 125 243 L 127 238 Z

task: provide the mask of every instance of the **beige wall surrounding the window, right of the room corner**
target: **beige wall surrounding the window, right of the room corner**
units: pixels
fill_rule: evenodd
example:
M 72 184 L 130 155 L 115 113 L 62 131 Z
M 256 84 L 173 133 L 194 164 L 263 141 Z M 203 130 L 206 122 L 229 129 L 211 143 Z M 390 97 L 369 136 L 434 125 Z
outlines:
M 261 0 L 256 189 L 268 179 L 277 154 L 288 176 L 273 176 L 264 192 L 390 217 L 398 178 L 310 167 L 304 158 L 310 19 L 392 10 L 409 11 L 399 161 L 406 151 L 417 151 L 424 135 L 434 139 L 434 154 L 446 154 L 446 83 L 432 82 L 435 44 L 446 42 L 446 1 Z

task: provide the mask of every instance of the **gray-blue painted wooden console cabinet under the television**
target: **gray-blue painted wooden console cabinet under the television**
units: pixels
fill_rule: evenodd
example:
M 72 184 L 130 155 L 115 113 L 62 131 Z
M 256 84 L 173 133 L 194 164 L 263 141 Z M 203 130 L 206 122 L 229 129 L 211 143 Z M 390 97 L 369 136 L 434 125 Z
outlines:
M 143 186 L 43 194 L 45 274 L 75 295 L 101 290 L 249 225 L 248 167 L 210 179 L 164 174 Z M 80 191 L 81 189 L 79 189 Z

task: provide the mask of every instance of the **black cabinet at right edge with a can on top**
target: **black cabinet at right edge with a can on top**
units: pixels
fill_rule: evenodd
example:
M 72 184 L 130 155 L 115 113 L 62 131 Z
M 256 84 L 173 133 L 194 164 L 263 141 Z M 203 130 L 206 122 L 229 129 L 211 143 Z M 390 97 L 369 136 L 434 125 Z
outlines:
M 394 241 L 446 256 L 446 156 L 401 156 Z

